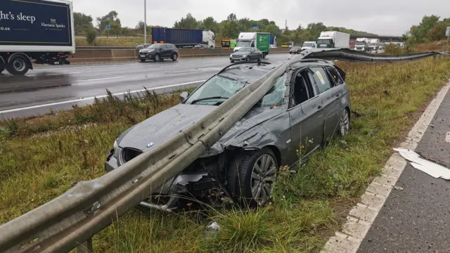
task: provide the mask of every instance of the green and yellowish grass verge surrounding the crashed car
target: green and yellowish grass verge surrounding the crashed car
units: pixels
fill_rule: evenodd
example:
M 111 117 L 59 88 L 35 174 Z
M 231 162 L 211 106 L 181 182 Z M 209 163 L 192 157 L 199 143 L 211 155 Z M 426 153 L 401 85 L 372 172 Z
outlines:
M 426 103 L 450 77 L 450 60 L 339 63 L 347 72 L 352 129 L 300 169 L 281 169 L 271 205 L 256 210 L 165 213 L 134 209 L 94 238 L 97 252 L 318 252 L 342 214 L 378 175 Z M 0 223 L 104 174 L 113 141 L 132 124 L 178 103 L 178 94 L 0 123 Z M 373 130 L 378 132 L 371 134 Z M 221 229 L 206 229 L 217 221 Z

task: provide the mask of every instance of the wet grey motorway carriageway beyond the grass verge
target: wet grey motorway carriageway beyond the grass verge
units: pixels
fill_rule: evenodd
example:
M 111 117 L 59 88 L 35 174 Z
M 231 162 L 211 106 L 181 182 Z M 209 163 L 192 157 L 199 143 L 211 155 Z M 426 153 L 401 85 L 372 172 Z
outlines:
M 264 61 L 288 60 L 274 53 Z M 50 110 L 93 103 L 106 89 L 116 96 L 124 92 L 154 89 L 164 93 L 198 86 L 226 65 L 228 57 L 186 58 L 162 63 L 105 63 L 90 65 L 37 66 L 25 76 L 0 74 L 0 117 L 43 115 Z

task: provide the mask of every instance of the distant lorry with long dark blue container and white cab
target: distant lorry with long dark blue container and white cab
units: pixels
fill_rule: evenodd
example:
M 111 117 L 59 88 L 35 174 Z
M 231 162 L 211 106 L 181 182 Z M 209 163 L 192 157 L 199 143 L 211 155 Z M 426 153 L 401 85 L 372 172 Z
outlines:
M 216 37 L 210 30 L 152 28 L 152 41 L 155 43 L 174 44 L 177 48 L 193 47 L 206 44 L 210 48 L 216 46 Z

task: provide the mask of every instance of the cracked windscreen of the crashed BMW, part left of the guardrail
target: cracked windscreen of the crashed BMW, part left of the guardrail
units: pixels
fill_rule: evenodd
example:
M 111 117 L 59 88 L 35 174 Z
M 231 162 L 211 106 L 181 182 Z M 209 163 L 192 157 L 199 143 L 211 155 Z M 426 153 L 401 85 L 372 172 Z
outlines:
M 242 89 L 244 85 L 245 82 L 243 81 L 216 75 L 194 91 L 188 100 L 186 100 L 186 103 L 192 103 L 194 100 L 204 98 L 212 98 L 198 101 L 197 104 L 214 105 L 217 102 L 223 102 L 224 98 L 230 98 L 236 91 Z

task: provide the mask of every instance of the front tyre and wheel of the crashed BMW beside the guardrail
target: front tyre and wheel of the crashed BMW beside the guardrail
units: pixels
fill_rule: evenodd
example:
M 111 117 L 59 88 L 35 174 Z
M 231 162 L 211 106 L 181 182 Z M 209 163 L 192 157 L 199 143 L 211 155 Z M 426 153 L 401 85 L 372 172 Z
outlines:
M 229 164 L 229 191 L 233 198 L 248 207 L 270 201 L 278 162 L 270 148 L 244 153 Z

